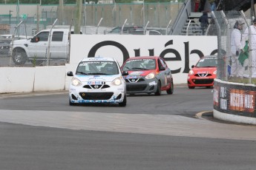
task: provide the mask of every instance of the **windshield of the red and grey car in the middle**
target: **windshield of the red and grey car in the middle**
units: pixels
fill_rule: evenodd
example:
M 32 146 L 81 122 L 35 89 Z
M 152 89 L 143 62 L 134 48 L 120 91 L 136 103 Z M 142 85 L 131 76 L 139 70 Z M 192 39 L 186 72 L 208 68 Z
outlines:
M 131 70 L 150 70 L 156 69 L 156 61 L 154 59 L 133 59 L 126 61 L 123 71 Z

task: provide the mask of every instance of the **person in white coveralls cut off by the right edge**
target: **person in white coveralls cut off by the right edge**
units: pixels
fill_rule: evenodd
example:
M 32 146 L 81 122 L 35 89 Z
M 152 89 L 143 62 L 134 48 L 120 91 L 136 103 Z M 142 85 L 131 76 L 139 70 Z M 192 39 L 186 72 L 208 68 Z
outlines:
M 251 32 L 251 36 L 249 36 L 249 29 Z M 256 18 L 252 21 L 252 25 L 247 27 L 246 30 L 243 33 L 243 44 L 246 44 L 246 41 L 249 41 L 249 37 L 251 38 L 251 45 L 252 50 L 252 78 L 256 78 Z M 249 61 L 246 61 L 246 64 L 248 64 Z M 246 77 L 249 77 L 249 75 L 245 75 Z

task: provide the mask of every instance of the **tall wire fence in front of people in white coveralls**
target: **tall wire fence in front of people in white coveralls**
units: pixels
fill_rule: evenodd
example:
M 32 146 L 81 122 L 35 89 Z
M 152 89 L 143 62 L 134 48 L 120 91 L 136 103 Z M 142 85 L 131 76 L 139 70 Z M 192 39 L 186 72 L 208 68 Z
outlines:
M 252 18 L 243 11 L 214 11 L 211 16 L 217 29 L 217 78 L 256 84 L 256 32 L 248 29 Z

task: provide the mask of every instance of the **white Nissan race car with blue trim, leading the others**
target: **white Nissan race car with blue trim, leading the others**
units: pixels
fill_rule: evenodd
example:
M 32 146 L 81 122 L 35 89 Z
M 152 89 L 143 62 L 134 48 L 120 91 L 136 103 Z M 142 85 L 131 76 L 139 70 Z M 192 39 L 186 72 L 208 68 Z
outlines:
M 84 58 L 76 67 L 69 87 L 69 104 L 118 103 L 126 106 L 125 80 L 114 58 Z

